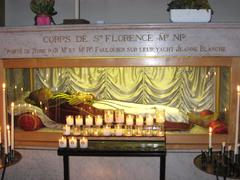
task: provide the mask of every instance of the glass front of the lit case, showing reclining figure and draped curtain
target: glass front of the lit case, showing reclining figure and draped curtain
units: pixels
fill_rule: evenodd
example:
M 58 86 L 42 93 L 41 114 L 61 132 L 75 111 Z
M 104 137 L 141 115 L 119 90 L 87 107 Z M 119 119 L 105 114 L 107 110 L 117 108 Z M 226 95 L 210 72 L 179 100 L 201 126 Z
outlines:
M 133 126 L 151 125 L 151 115 L 152 136 L 161 129 L 158 122 L 162 120 L 157 120 L 160 116 L 156 115 L 160 109 L 164 110 L 167 133 L 206 134 L 209 126 L 215 133 L 227 132 L 228 67 L 7 69 L 6 82 L 7 103 L 15 103 L 19 130 L 62 132 L 67 116 L 73 116 L 73 124 L 82 116 L 79 126 L 95 128 L 97 115 L 104 118 L 106 110 L 114 110 L 112 127 L 119 122 L 125 127 L 127 115 L 133 115 Z M 120 110 L 124 111 L 124 121 L 115 120 Z M 100 122 L 105 127 L 106 122 Z M 75 129 L 76 133 L 84 132 L 83 127 Z M 142 128 L 143 132 L 137 127 L 126 129 L 133 135 L 144 134 L 144 130 L 148 133 L 146 128 Z M 95 129 L 91 131 L 93 136 Z M 99 134 L 97 130 L 95 134 Z

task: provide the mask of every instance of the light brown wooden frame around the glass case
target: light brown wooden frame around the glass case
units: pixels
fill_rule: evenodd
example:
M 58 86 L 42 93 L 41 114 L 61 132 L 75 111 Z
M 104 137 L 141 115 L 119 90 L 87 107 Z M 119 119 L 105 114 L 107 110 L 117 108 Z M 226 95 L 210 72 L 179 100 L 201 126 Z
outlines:
M 234 143 L 236 124 L 236 87 L 240 82 L 240 57 L 133 57 L 133 58 L 41 58 L 41 59 L 0 59 L 0 83 L 4 81 L 6 68 L 44 68 L 44 67 L 126 67 L 126 66 L 226 66 L 230 68 L 230 117 L 228 134 L 213 136 L 213 144 L 222 141 Z M 0 107 L 2 107 L 2 90 L 0 91 Z M 2 117 L 2 108 L 0 108 Z M 15 140 L 18 147 L 57 147 L 60 133 L 16 131 Z M 200 149 L 207 148 L 208 135 L 168 134 L 168 149 Z

